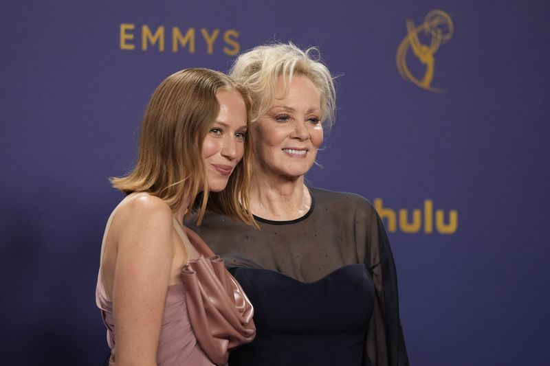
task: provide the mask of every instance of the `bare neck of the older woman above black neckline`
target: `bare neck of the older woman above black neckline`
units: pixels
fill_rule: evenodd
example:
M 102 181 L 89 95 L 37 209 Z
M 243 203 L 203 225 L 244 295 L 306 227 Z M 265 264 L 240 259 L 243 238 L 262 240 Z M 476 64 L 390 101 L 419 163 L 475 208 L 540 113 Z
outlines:
M 291 179 L 283 176 L 254 176 L 250 187 L 252 214 L 274 221 L 288 221 L 307 214 L 311 195 L 304 176 Z

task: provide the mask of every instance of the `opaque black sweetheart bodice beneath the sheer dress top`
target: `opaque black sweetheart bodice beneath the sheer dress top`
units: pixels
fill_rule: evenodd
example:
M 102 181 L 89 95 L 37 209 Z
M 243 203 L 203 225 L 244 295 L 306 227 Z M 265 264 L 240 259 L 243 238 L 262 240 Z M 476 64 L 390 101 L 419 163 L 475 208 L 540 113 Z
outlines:
M 230 365 L 361 365 L 375 296 L 364 264 L 311 283 L 266 269 L 232 273 L 254 304 L 257 335 Z

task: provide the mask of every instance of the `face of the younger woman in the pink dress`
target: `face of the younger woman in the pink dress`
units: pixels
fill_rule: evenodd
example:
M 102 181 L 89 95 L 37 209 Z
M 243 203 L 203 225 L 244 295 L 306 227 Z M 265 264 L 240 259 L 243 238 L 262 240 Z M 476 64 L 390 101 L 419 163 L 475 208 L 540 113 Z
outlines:
M 220 192 L 244 154 L 246 106 L 237 91 L 216 93 L 219 113 L 206 135 L 202 153 L 206 163 L 208 189 Z

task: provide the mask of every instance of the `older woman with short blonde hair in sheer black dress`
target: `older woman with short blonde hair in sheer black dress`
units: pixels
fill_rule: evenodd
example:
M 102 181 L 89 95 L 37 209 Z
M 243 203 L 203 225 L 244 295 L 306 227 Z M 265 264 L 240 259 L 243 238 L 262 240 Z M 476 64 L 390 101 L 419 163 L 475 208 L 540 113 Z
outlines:
M 255 309 L 256 339 L 229 364 L 408 365 L 382 220 L 362 196 L 305 183 L 336 99 L 316 54 L 255 47 L 230 73 L 253 100 L 250 207 L 261 230 L 210 211 L 197 229 Z

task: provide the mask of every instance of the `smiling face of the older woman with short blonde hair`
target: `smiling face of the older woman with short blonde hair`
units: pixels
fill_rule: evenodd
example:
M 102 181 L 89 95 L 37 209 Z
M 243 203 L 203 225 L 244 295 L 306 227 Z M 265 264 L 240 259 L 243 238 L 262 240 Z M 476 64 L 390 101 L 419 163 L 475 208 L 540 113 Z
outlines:
M 256 169 L 273 179 L 303 176 L 322 144 L 319 91 L 305 76 L 294 76 L 284 95 L 280 77 L 276 98 L 263 117 L 252 124 Z

